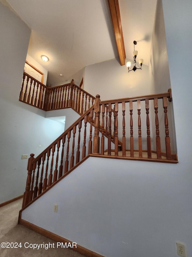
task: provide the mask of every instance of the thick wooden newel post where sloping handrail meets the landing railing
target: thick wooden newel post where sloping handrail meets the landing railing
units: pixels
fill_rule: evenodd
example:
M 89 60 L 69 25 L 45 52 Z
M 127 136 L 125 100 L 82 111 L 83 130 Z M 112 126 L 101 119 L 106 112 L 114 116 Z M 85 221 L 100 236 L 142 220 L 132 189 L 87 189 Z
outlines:
M 95 132 L 93 137 L 93 151 L 94 154 L 100 154 L 99 145 L 100 145 L 100 137 L 99 137 L 99 128 L 100 128 L 100 95 L 96 95 L 95 99 Z

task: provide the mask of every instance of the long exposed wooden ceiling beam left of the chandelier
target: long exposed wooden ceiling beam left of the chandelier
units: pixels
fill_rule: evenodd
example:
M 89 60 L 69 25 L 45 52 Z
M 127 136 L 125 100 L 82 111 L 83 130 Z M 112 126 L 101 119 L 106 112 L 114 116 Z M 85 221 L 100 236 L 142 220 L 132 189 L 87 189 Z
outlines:
M 121 27 L 121 17 L 119 11 L 119 2 L 118 0 L 108 0 L 109 9 L 111 13 L 111 19 L 113 22 L 113 29 L 116 38 L 117 49 L 119 53 L 120 64 L 125 65 L 125 46 L 123 40 L 123 32 Z

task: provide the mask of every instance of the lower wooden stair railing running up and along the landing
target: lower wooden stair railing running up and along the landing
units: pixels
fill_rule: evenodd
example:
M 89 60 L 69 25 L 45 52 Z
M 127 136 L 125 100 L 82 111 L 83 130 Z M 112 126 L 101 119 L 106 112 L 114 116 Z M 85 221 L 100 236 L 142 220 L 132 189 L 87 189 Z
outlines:
M 170 146 L 167 98 L 171 101 L 171 89 L 162 94 L 102 102 L 100 96 L 97 95 L 95 104 L 85 111 L 40 155 L 36 158 L 34 158 L 34 154 L 30 155 L 22 208 L 41 195 L 52 183 L 69 172 L 88 155 L 177 163 L 177 155 L 171 152 Z M 159 124 L 158 120 L 159 99 L 163 99 L 165 152 L 161 150 L 160 125 L 162 124 Z M 142 101 L 145 103 L 144 111 L 141 108 Z M 149 123 L 149 111 L 151 111 L 149 109 L 150 107 L 152 109 L 152 105 L 154 106 L 155 147 L 151 143 Z M 112 115 L 112 109 L 114 109 L 114 115 Z M 121 109 L 122 111 L 120 111 Z M 127 109 L 128 113 L 126 112 Z M 136 119 L 136 130 L 138 132 L 135 131 L 134 127 Z M 145 125 L 143 124 L 144 119 Z M 93 120 L 95 124 L 93 124 Z M 130 131 L 127 133 L 128 135 L 126 134 L 127 125 L 128 131 Z M 111 141 L 113 134 L 114 144 Z M 134 134 L 137 134 L 137 136 L 134 137 Z M 118 149 L 119 137 L 122 139 L 122 152 L 119 152 Z M 146 140 L 146 146 L 143 145 L 144 139 Z

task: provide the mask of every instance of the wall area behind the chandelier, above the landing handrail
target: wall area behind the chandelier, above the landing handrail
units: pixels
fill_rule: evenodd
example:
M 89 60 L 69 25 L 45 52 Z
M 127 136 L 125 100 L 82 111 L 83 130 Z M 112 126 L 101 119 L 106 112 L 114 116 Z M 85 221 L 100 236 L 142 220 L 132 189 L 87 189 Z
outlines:
M 127 61 L 131 61 L 126 59 Z M 150 94 L 149 68 L 130 71 L 121 66 L 117 59 L 85 67 L 84 90 L 91 95 L 101 96 L 101 101 Z

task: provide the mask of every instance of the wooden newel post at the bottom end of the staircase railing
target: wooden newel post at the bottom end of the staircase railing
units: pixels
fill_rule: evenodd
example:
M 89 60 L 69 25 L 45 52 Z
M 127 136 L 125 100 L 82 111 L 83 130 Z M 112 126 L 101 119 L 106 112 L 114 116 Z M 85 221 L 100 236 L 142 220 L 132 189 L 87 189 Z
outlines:
M 32 161 L 35 159 L 34 153 L 31 153 L 30 156 L 31 157 L 28 159 L 28 165 L 27 165 L 28 176 L 27 176 L 25 193 L 23 194 L 22 208 L 24 208 L 29 203 L 29 200 L 30 200 L 30 186 L 31 186 L 32 171 L 33 171 Z

